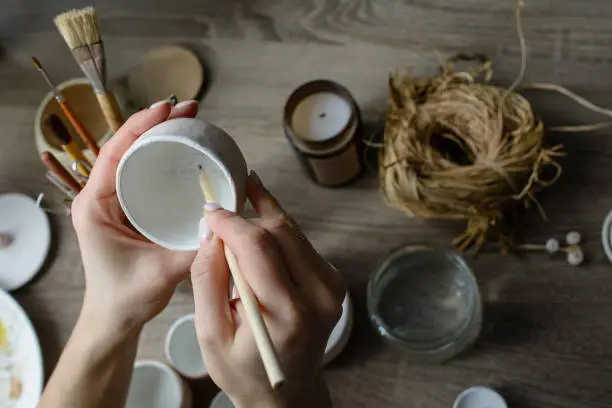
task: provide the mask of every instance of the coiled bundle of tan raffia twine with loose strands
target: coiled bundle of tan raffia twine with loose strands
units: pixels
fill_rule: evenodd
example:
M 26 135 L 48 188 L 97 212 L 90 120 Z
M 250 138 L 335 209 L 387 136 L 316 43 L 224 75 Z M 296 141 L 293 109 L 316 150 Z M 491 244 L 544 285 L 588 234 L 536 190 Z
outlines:
M 389 106 L 381 148 L 379 177 L 383 196 L 411 217 L 466 220 L 466 231 L 453 243 L 479 250 L 493 227 L 503 252 L 513 247 L 505 215 L 517 204 L 535 204 L 535 194 L 561 175 L 555 160 L 562 145 L 544 146 L 544 125 L 530 103 L 515 92 L 526 69 L 520 10 L 516 9 L 521 69 L 508 89 L 490 85 L 491 62 L 459 55 L 431 78 L 410 72 L 391 75 Z M 472 71 L 455 72 L 457 60 L 480 60 Z M 481 81 L 481 82 L 479 82 Z M 557 85 L 527 87 L 560 92 L 587 109 L 611 116 Z M 561 127 L 585 131 L 609 124 Z M 369 143 L 372 146 L 372 143 Z M 546 169 L 552 169 L 548 174 Z

